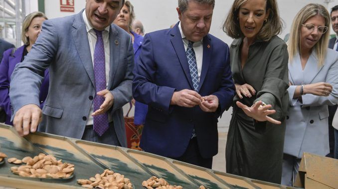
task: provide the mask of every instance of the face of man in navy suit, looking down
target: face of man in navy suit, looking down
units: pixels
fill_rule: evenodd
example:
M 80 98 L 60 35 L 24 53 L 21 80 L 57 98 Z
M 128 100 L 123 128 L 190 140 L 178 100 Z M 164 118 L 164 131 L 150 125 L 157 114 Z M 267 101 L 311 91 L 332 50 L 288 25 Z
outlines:
M 187 9 L 183 12 L 180 12 L 178 7 L 176 9 L 182 32 L 189 41 L 200 41 L 209 33 L 213 11 L 212 5 L 200 4 L 191 0 L 188 2 Z

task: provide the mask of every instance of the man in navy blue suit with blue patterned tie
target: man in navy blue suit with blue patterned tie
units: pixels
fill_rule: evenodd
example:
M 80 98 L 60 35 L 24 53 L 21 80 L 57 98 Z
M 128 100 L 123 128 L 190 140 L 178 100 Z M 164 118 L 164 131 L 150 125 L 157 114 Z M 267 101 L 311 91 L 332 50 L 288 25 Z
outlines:
M 210 168 L 218 151 L 217 118 L 235 94 L 229 47 L 208 34 L 215 0 L 178 0 L 179 22 L 146 34 L 133 94 L 148 104 L 141 147 Z

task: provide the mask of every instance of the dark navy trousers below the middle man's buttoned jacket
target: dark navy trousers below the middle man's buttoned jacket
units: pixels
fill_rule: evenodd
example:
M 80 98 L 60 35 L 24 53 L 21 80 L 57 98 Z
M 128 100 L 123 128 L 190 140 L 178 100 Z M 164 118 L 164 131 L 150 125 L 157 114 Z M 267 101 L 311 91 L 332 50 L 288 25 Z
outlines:
M 203 158 L 201 156 L 201 154 L 199 153 L 199 148 L 198 148 L 196 137 L 193 137 L 192 139 L 190 139 L 188 147 L 186 148 L 182 156 L 178 158 L 171 158 L 171 159 L 190 163 L 190 164 L 197 165 L 200 167 L 205 167 L 208 169 L 212 168 L 212 157 Z

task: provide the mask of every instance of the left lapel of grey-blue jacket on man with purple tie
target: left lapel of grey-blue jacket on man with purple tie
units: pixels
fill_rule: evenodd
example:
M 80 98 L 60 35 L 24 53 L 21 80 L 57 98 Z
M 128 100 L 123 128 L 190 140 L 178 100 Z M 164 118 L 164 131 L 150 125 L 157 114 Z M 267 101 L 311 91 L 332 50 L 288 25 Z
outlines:
M 82 18 L 82 11 L 75 16 L 73 27 L 72 38 L 74 40 L 76 50 L 93 86 L 95 87 L 93 61 L 90 54 L 86 25 Z

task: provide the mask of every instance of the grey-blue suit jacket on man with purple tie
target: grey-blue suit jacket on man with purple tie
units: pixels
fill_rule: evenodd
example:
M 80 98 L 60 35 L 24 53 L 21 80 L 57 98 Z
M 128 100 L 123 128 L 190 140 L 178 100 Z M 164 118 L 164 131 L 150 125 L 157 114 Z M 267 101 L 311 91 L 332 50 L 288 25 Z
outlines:
M 45 124 L 39 125 L 39 131 L 74 138 L 83 135 L 96 92 L 82 11 L 44 21 L 30 53 L 11 76 L 9 96 L 15 115 L 24 105 L 39 105 L 39 88 L 44 70 L 49 67 L 49 92 L 42 109 Z M 133 44 L 127 32 L 116 25 L 110 27 L 108 90 L 114 104 L 108 115 L 113 118 L 121 145 L 126 146 L 122 106 L 132 98 Z

